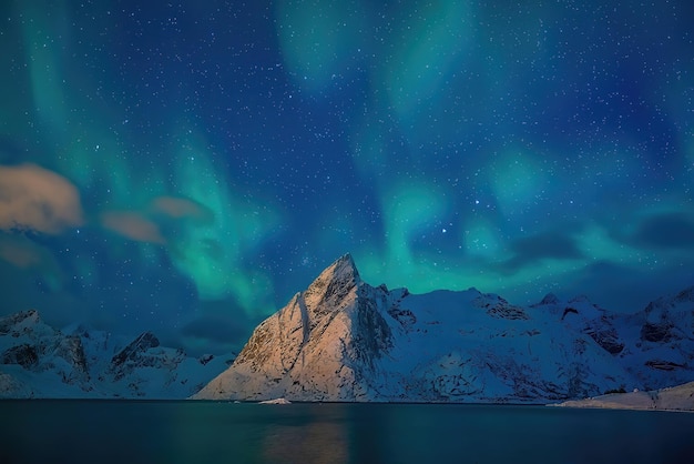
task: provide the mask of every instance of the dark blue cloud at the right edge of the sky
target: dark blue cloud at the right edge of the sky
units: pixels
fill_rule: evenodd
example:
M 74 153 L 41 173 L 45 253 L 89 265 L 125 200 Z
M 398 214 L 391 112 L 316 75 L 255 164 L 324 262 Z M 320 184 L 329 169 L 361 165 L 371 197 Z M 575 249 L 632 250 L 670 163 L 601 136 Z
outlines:
M 682 212 L 645 218 L 631 241 L 650 249 L 694 248 L 694 218 Z

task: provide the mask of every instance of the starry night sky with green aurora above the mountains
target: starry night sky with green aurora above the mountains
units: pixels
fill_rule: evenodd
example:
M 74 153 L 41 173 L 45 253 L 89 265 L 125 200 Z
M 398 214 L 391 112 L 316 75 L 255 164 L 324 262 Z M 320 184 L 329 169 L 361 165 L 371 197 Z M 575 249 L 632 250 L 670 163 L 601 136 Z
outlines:
M 0 4 L 0 313 L 237 350 L 335 259 L 613 311 L 694 284 L 694 4 Z

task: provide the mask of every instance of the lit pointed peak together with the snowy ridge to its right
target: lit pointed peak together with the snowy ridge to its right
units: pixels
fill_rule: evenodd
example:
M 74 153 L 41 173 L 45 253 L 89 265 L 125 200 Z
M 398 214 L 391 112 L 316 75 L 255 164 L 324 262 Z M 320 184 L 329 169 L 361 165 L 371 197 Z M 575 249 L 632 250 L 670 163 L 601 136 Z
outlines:
M 193 399 L 547 403 L 694 380 L 694 289 L 634 315 L 474 289 L 371 286 L 350 255 L 266 319 Z

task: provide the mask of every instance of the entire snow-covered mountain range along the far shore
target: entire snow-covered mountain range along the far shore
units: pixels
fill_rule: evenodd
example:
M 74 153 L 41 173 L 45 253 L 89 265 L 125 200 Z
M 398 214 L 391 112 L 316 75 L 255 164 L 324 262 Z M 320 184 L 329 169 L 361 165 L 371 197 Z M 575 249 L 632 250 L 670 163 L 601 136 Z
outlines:
M 154 334 L 0 319 L 0 397 L 553 403 L 694 380 L 694 288 L 634 314 L 579 296 L 518 306 L 467 291 L 371 286 L 349 254 L 267 317 L 238 356 Z M 233 363 L 232 363 L 233 361 Z

